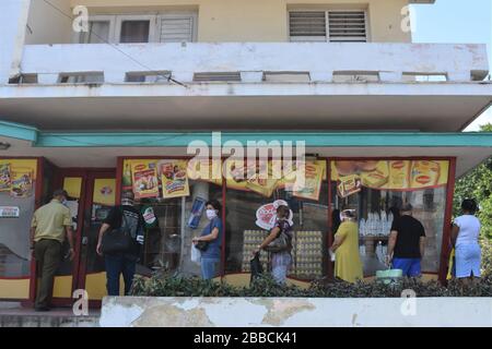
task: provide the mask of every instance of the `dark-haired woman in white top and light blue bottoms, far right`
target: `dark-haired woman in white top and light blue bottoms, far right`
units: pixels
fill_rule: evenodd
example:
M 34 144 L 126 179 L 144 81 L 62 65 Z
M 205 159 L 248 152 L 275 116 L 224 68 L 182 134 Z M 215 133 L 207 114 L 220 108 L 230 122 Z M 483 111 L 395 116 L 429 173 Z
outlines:
M 462 215 L 453 224 L 452 243 L 455 246 L 456 277 L 468 281 L 480 277 L 481 250 L 478 242 L 480 236 L 480 220 L 475 216 L 477 212 L 475 200 L 464 200 Z

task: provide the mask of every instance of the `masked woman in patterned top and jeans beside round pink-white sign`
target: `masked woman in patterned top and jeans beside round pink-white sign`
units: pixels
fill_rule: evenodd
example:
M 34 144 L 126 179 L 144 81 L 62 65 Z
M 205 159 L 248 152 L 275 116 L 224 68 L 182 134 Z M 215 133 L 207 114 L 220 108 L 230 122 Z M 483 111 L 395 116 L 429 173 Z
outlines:
M 280 285 L 285 284 L 288 270 L 292 264 L 292 226 L 289 222 L 289 216 L 291 210 L 288 206 L 280 205 L 277 208 L 277 224 L 273 229 L 271 229 L 270 234 L 265 239 L 263 242 L 258 246 L 253 254 L 259 253 L 262 249 L 268 246 L 270 242 L 280 237 L 281 233 L 284 233 L 289 239 L 289 245 L 285 250 L 279 252 L 270 252 L 271 253 L 271 272 L 273 274 L 273 278 Z

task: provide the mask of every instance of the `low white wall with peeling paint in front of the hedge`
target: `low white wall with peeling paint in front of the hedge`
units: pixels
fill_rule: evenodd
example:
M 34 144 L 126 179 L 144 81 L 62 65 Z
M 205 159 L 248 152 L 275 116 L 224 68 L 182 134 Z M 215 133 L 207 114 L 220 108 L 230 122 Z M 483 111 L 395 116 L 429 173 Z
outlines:
M 102 327 L 492 326 L 492 298 L 107 297 Z

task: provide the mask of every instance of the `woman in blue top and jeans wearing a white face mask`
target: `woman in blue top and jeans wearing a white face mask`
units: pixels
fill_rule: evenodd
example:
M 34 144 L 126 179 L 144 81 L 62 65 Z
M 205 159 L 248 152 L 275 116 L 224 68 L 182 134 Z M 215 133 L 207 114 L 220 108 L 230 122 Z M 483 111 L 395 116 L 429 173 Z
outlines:
M 220 218 L 221 204 L 216 200 L 207 202 L 207 218 L 209 224 L 200 237 L 194 238 L 194 244 L 199 241 L 208 243 L 207 250 L 201 251 L 201 276 L 204 280 L 211 280 L 216 276 L 221 261 L 222 248 L 222 219 Z

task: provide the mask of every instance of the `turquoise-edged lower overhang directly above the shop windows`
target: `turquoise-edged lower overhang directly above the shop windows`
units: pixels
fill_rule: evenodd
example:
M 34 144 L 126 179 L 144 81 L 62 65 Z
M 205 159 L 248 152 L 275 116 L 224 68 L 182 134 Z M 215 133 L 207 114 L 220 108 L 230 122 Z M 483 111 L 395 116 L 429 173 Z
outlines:
M 192 156 L 192 141 L 212 146 L 212 132 L 42 132 L 0 122 L 0 142 L 11 146 L 2 157 L 44 156 L 60 167 L 115 167 L 119 156 Z M 219 134 L 215 134 L 219 135 Z M 218 140 L 218 139 L 215 139 Z M 219 144 L 230 141 L 305 142 L 306 152 L 320 157 L 435 157 L 457 159 L 457 177 L 492 155 L 492 133 L 423 132 L 221 132 Z

